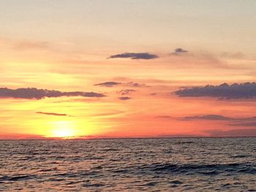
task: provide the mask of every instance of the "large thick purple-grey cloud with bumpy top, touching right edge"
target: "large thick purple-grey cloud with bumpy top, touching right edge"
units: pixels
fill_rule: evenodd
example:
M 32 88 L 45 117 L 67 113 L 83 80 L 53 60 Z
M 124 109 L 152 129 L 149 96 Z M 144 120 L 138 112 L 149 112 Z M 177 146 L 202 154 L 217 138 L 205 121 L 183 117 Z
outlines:
M 252 99 L 256 97 L 256 83 L 244 82 L 228 85 L 206 85 L 205 87 L 181 88 L 175 92 L 178 96 L 187 97 L 217 97 L 219 99 Z

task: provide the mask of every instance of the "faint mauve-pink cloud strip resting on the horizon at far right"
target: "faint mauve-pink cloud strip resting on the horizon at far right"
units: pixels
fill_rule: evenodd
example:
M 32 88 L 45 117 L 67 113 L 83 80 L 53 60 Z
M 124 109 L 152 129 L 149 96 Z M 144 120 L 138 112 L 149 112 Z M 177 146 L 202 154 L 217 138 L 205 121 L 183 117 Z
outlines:
M 256 137 L 256 128 L 232 129 L 228 131 L 208 130 L 205 131 L 211 137 Z

